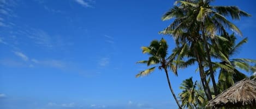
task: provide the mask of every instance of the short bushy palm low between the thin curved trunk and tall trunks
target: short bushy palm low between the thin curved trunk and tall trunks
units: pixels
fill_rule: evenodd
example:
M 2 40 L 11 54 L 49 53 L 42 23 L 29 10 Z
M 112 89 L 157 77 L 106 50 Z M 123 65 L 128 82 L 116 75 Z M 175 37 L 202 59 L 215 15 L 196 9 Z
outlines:
M 201 95 L 197 90 L 197 81 L 193 82 L 192 77 L 184 80 L 180 89 L 182 89 L 182 92 L 178 96 L 182 101 L 181 106 L 189 109 L 197 109 L 199 105 L 204 104 L 204 95 Z

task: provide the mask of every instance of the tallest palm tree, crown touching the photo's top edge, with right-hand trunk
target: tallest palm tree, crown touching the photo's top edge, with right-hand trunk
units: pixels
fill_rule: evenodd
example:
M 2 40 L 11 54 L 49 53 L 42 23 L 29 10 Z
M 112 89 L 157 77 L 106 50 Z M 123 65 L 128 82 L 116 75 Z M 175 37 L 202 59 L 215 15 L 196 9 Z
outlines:
M 190 32 L 190 35 L 185 38 L 188 40 L 201 39 L 203 41 L 206 51 L 206 62 L 209 65 L 213 88 L 215 95 L 217 95 L 208 40 L 214 38 L 216 33 L 227 34 L 225 28 L 233 29 L 236 33 L 242 35 L 241 31 L 233 23 L 229 22 L 225 16 L 231 16 L 231 18 L 239 20 L 240 16 L 250 15 L 237 7 L 216 7 L 211 6 L 210 2 L 211 0 L 176 1 L 174 8 L 170 9 L 162 17 L 163 21 L 170 20 L 171 18 L 175 18 L 175 20 L 162 33 L 179 37 L 181 33 L 188 33 L 193 30 L 194 32 Z

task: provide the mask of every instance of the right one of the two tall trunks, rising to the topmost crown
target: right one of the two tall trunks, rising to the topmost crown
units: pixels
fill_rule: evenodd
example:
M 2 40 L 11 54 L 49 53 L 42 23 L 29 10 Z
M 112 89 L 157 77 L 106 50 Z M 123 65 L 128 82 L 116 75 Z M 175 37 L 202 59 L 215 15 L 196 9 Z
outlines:
M 208 62 L 208 65 L 209 65 L 209 69 L 210 69 L 210 76 L 211 76 L 211 79 L 212 79 L 212 85 L 213 85 L 213 89 L 214 89 L 214 93 L 215 93 L 215 96 L 218 95 L 218 89 L 217 89 L 217 86 L 216 86 L 216 82 L 215 82 L 215 78 L 214 78 L 214 75 L 213 75 L 213 69 L 212 69 L 212 61 L 211 61 L 211 55 L 210 55 L 210 49 L 208 47 L 208 43 L 206 41 L 206 36 L 205 36 L 205 31 L 204 31 L 204 24 L 202 24 L 202 35 L 203 35 L 203 40 L 204 40 L 204 44 L 205 44 L 205 49 L 206 49 L 206 56 L 207 56 L 207 62 Z

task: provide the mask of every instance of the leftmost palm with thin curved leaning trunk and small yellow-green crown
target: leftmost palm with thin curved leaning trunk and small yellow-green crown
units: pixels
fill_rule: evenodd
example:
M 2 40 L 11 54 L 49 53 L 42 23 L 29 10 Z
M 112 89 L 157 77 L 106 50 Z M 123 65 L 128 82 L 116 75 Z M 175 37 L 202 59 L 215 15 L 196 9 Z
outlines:
M 161 39 L 160 41 L 158 40 L 153 40 L 150 43 L 150 46 L 148 47 L 141 47 L 142 53 L 146 53 L 150 55 L 148 57 L 147 61 L 138 61 L 137 63 L 145 63 L 147 66 L 153 65 L 153 67 L 141 71 L 139 74 L 136 75 L 136 78 L 144 75 L 148 75 L 153 72 L 154 69 L 159 68 L 160 70 L 164 69 L 164 72 L 166 74 L 166 79 L 168 81 L 168 85 L 170 88 L 170 91 L 178 105 L 178 107 L 181 109 L 181 105 L 178 102 L 178 99 L 176 98 L 176 95 L 171 87 L 169 75 L 168 75 L 168 69 L 171 68 L 172 71 L 174 71 L 175 75 L 177 75 L 177 67 L 171 63 L 170 58 L 167 57 L 168 55 L 168 44 L 164 39 Z

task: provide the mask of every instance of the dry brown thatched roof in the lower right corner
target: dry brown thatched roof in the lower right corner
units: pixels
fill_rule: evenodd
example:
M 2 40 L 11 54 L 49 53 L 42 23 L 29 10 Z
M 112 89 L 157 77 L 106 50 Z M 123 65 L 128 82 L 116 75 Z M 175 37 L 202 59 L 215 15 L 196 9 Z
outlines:
M 243 79 L 236 82 L 216 98 L 209 101 L 206 107 L 221 108 L 221 107 L 256 107 L 256 81 Z

